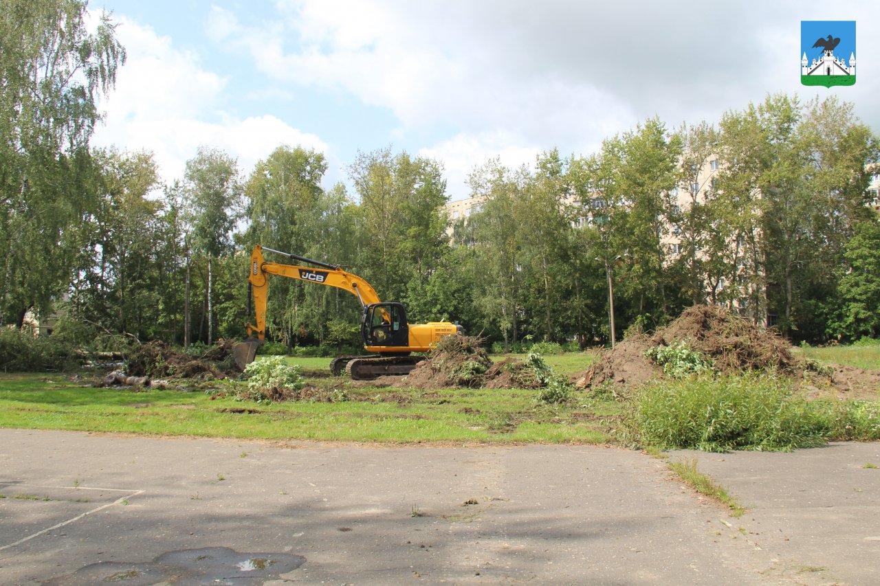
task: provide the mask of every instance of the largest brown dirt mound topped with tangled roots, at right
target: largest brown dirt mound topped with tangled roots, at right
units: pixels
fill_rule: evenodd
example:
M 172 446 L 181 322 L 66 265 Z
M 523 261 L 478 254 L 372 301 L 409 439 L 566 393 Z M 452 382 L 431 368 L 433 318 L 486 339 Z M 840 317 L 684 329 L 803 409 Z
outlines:
M 722 372 L 776 369 L 794 374 L 803 369 L 788 342 L 774 330 L 759 328 L 722 307 L 695 305 L 653 336 L 635 336 L 606 350 L 590 370 L 577 377 L 576 385 L 642 385 L 661 376 L 661 370 L 645 353 L 678 341 L 712 358 L 715 368 Z

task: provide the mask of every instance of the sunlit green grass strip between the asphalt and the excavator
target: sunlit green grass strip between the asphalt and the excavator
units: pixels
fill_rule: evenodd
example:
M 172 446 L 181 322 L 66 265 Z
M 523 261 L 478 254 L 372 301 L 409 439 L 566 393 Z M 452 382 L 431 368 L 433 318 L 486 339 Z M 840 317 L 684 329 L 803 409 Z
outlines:
M 326 363 L 326 359 L 320 359 Z M 301 359 L 297 359 L 297 363 Z M 338 403 L 264 405 L 202 391 L 132 392 L 45 375 L 0 375 L 0 427 L 76 429 L 172 436 L 379 443 L 603 443 L 611 401 L 539 406 L 526 390 L 350 388 Z M 338 385 L 334 377 L 314 385 Z

